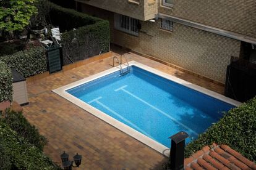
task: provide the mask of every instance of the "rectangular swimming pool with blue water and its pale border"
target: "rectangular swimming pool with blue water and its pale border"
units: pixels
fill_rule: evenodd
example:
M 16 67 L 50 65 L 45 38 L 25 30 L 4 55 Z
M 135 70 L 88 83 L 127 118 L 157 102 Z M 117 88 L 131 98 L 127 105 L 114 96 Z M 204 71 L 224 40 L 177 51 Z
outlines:
M 169 136 L 197 138 L 239 102 L 137 62 L 54 90 L 62 97 L 163 153 Z

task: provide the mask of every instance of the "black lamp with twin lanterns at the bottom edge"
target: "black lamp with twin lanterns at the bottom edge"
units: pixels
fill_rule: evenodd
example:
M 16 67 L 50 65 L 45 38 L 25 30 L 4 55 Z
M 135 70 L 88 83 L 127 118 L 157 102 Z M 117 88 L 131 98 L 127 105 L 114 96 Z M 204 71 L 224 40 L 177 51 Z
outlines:
M 75 161 L 75 165 L 73 165 L 74 161 L 69 161 L 69 154 L 65 151 L 61 154 L 62 166 L 65 170 L 72 170 L 72 167 L 79 167 L 82 162 L 82 156 L 78 155 L 78 153 L 73 157 Z

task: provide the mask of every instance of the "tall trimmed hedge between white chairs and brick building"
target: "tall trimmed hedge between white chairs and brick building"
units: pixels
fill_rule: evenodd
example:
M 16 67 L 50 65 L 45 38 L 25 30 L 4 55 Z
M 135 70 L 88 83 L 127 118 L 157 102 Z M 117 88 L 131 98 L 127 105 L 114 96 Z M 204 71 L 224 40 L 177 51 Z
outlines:
M 64 64 L 87 59 L 109 50 L 109 23 L 97 22 L 62 34 Z M 106 31 L 108 30 L 108 31 Z M 106 41 L 107 40 L 107 41 Z

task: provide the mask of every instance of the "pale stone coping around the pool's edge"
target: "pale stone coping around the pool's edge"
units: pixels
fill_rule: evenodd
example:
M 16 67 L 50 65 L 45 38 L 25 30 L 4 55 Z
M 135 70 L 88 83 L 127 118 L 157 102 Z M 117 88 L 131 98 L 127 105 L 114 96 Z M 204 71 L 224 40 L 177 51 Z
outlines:
M 147 65 L 143 65 L 142 63 L 131 61 L 131 62 L 129 62 L 129 65 L 130 66 L 134 65 L 136 67 L 142 68 L 143 70 L 149 71 L 155 75 L 169 79 L 178 84 L 181 84 L 182 86 L 186 86 L 186 87 L 189 87 L 190 89 L 194 89 L 195 91 L 202 92 L 203 94 L 210 95 L 211 97 L 222 100 L 223 102 L 229 103 L 231 105 L 235 105 L 235 106 L 241 105 L 241 102 L 237 102 L 236 100 L 230 99 L 228 97 L 225 97 L 224 95 L 218 94 L 216 92 L 210 91 L 203 87 L 189 83 L 188 81 L 177 78 L 175 76 L 168 75 L 166 73 L 163 73 L 162 71 L 156 70 L 155 68 L 151 68 L 151 67 L 148 67 Z M 122 68 L 126 68 L 126 67 L 127 67 L 126 65 L 122 65 Z M 109 75 L 109 74 L 114 73 L 115 71 L 119 71 L 119 70 L 120 70 L 119 67 L 113 67 L 113 68 L 110 68 L 109 70 L 102 71 L 101 73 L 97 73 L 96 75 L 89 76 L 88 78 L 83 78 L 83 79 L 80 79 L 79 81 L 75 81 L 74 83 L 70 83 L 70 84 L 67 84 L 66 86 L 62 86 L 62 87 L 59 87 L 58 89 L 54 89 L 53 92 L 55 92 L 58 95 L 61 95 L 61 97 L 63 97 L 64 99 L 69 100 L 70 102 L 74 103 L 75 105 L 79 106 L 80 108 L 83 108 L 83 110 L 86 110 L 89 113 L 91 113 L 92 115 L 102 119 L 106 123 L 111 124 L 111 126 L 114 126 L 117 129 L 121 130 L 122 132 L 125 132 L 129 136 L 134 137 L 135 139 L 139 140 L 143 144 L 148 145 L 148 147 L 153 148 L 157 152 L 160 152 L 165 156 L 169 156 L 169 148 L 168 147 L 164 146 L 163 144 L 160 144 L 159 142 L 156 142 L 155 140 L 151 139 L 150 137 L 145 136 L 144 134 L 140 133 L 139 131 L 136 131 L 135 129 L 133 129 L 132 127 L 129 127 L 124 123 L 121 123 L 120 121 L 112 118 L 111 116 L 107 115 L 103 111 L 100 111 L 100 110 L 96 109 L 95 107 L 92 107 L 88 103 L 85 103 L 82 100 L 78 99 L 77 97 L 74 97 L 74 95 L 71 95 L 68 92 L 66 92 L 69 89 L 72 89 L 74 87 L 80 86 L 85 83 L 88 83 L 90 81 L 93 81 L 95 79 L 101 78 L 106 75 Z

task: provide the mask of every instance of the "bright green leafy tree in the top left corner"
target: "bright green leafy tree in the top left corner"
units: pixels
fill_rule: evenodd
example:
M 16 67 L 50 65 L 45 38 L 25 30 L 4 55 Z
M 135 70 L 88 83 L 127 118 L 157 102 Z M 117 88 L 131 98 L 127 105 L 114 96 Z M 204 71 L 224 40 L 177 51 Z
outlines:
M 0 0 L 0 31 L 22 31 L 36 14 L 36 0 Z

